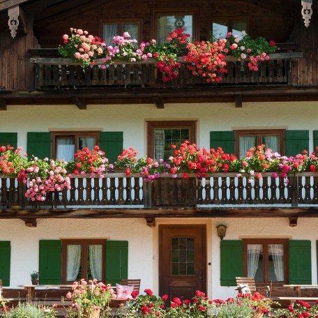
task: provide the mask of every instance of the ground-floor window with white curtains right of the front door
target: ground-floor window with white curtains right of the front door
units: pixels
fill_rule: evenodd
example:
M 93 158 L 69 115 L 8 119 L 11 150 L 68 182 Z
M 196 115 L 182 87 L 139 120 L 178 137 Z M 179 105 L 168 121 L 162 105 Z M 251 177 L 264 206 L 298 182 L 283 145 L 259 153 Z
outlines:
M 287 282 L 287 239 L 245 239 L 244 275 L 256 282 Z

